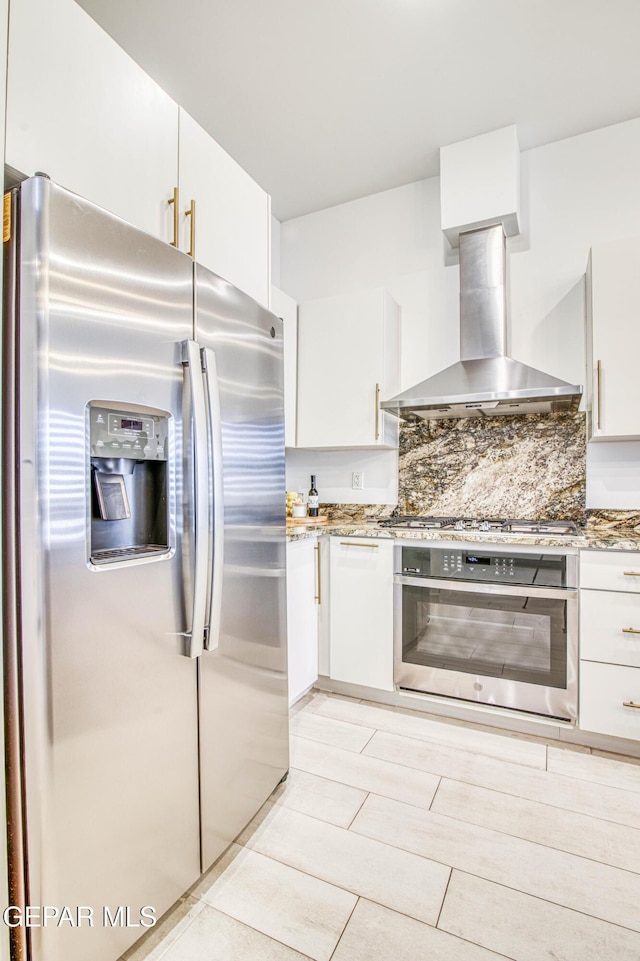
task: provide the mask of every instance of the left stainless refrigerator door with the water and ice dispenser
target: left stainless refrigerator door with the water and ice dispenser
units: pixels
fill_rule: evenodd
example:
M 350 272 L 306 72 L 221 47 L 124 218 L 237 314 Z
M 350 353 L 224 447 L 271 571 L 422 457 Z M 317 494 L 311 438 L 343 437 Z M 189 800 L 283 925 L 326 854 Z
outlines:
M 114 961 L 145 932 L 141 908 L 161 915 L 199 874 L 197 667 L 181 656 L 191 617 L 181 342 L 192 331 L 192 264 L 43 177 L 22 185 L 20 223 L 27 896 L 93 912 L 93 926 L 50 921 L 29 934 L 34 961 Z M 149 446 L 153 423 L 149 456 L 160 460 L 149 509 L 146 467 L 128 474 L 117 454 L 140 437 Z M 102 515 L 116 519 L 100 519 L 96 424 L 111 438 L 114 460 L 100 462 L 123 478 L 129 517 L 116 485 Z M 136 539 L 137 557 L 127 546 Z

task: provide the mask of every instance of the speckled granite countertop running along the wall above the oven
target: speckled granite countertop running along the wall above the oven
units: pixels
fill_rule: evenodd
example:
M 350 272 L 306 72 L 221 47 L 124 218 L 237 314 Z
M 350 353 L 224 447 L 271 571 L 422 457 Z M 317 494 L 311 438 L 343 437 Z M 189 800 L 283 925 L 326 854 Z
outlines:
M 448 541 L 471 544 L 521 544 L 531 547 L 570 547 L 573 550 L 597 551 L 640 551 L 640 534 L 635 531 L 596 531 L 591 530 L 576 537 L 538 536 L 536 534 L 495 534 L 471 531 L 434 531 L 406 530 L 402 528 L 380 527 L 377 522 L 345 524 L 329 522 L 322 526 L 296 525 L 287 528 L 287 540 L 299 541 L 321 534 L 338 537 L 379 537 L 391 540 Z

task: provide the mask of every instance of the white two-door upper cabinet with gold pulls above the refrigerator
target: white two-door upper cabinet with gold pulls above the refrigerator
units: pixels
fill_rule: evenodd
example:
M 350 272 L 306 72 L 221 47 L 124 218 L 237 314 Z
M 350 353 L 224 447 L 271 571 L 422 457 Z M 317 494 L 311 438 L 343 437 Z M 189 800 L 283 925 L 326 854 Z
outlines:
M 268 195 L 74 0 L 11 2 L 6 163 L 167 242 L 179 186 L 177 246 L 269 305 Z

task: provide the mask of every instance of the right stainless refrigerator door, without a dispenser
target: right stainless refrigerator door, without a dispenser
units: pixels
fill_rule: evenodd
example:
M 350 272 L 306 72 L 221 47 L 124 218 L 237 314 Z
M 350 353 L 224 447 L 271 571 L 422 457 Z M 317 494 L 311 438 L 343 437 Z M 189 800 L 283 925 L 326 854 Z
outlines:
M 219 518 L 223 506 L 224 532 L 218 520 L 210 650 L 198 663 L 206 870 L 289 766 L 284 404 L 281 321 L 205 268 L 196 265 L 195 276 L 195 339 L 209 357 L 212 476 L 221 475 L 224 501 L 214 484 L 212 513 Z

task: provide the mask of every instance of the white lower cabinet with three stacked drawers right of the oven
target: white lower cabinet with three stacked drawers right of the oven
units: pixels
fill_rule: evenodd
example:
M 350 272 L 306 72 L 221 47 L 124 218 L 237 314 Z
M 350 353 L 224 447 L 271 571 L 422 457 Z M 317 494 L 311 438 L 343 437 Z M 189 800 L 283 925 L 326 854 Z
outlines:
M 630 740 L 640 740 L 639 562 L 624 551 L 580 559 L 579 726 Z

